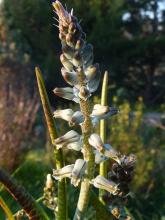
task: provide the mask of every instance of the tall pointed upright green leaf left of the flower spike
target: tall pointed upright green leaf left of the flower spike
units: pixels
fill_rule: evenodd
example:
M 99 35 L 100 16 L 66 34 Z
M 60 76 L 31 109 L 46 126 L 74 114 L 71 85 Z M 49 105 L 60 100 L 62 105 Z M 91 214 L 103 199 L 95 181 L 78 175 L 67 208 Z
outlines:
M 58 137 L 55 121 L 52 115 L 49 98 L 45 89 L 42 73 L 38 67 L 35 68 L 39 93 L 41 97 L 42 106 L 46 118 L 47 127 L 49 130 L 51 142 L 54 145 L 54 140 Z M 54 148 L 56 168 L 60 169 L 64 166 L 62 150 Z M 67 219 L 67 200 L 66 200 L 66 181 L 65 179 L 58 182 L 58 212 L 56 214 L 57 220 Z

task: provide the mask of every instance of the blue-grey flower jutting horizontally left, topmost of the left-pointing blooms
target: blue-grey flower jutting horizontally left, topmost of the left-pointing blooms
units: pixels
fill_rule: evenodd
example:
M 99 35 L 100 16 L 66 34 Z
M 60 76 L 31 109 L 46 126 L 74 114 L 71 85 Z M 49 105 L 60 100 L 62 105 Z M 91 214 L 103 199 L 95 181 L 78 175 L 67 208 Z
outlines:
M 59 97 L 79 103 L 79 98 L 77 96 L 77 91 L 75 90 L 75 88 L 71 88 L 71 87 L 55 88 L 53 92 L 55 93 L 55 95 Z

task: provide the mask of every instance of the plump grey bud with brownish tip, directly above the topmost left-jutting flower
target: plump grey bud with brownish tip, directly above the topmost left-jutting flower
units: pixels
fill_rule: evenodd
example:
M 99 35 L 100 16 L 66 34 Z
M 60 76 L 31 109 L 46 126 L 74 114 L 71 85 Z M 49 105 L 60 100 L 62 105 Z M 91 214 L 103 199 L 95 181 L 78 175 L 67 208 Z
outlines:
M 69 85 L 74 86 L 79 83 L 77 74 L 75 72 L 67 72 L 67 70 L 65 68 L 62 68 L 61 74 L 62 74 L 63 78 L 65 79 L 65 81 Z

